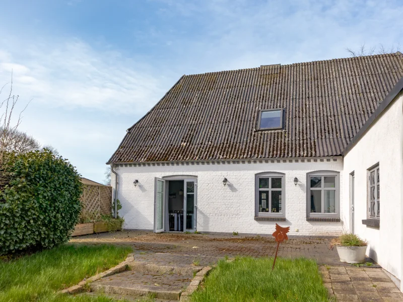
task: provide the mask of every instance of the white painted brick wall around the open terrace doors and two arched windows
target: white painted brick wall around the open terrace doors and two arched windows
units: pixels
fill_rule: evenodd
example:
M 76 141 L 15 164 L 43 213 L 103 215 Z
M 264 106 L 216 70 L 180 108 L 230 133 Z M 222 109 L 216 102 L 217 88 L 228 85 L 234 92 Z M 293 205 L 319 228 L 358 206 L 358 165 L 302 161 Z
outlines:
M 279 222 L 282 226 L 291 226 L 290 234 L 299 236 L 331 236 L 343 232 L 342 222 L 308 222 L 306 221 L 306 174 L 318 170 L 340 172 L 340 200 L 343 198 L 343 159 L 341 157 L 323 162 L 281 160 L 280 163 L 225 164 L 179 163 L 179 166 L 157 166 L 151 164 L 144 167 L 119 167 L 118 198 L 122 204 L 119 214 L 124 217 L 124 228 L 153 230 L 154 225 L 154 186 L 155 177 L 170 175 L 197 176 L 197 230 L 200 232 L 227 232 L 253 234 L 271 234 L 274 232 L 274 221 L 255 221 L 255 174 L 260 172 L 285 173 L 286 185 L 286 219 Z M 227 161 L 226 161 L 227 163 Z M 222 180 L 226 177 L 228 185 Z M 294 178 L 299 183 L 294 185 Z M 133 180 L 138 179 L 137 187 Z M 112 174 L 112 185 L 114 175 Z M 343 209 L 343 206 L 340 206 Z M 340 217 L 343 219 L 343 213 Z M 295 230 L 298 229 L 299 232 Z

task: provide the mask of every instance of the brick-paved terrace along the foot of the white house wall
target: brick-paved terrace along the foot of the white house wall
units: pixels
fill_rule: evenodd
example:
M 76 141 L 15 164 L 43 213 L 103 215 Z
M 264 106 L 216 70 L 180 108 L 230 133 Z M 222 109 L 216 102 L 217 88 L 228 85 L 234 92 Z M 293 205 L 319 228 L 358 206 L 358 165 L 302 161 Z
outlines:
M 205 266 L 225 256 L 271 257 L 277 243 L 271 236 L 235 236 L 122 231 L 74 237 L 72 243 L 130 245 L 136 261 L 159 265 L 189 265 L 193 261 Z M 329 250 L 328 238 L 290 238 L 280 245 L 280 257 L 306 257 L 318 264 L 343 265 L 335 249 Z M 368 259 L 367 261 L 371 261 Z

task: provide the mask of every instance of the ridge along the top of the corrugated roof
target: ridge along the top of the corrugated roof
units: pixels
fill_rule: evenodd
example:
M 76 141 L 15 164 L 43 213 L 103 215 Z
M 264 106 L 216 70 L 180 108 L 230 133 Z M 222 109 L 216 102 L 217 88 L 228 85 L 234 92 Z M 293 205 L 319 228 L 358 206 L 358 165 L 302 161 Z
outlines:
M 385 57 L 385 56 L 390 56 L 390 55 L 402 55 L 403 56 L 403 54 L 400 51 L 396 51 L 396 52 L 391 52 L 391 53 L 371 54 L 371 55 L 363 55 L 363 56 L 356 56 L 356 57 L 333 58 L 333 59 L 327 59 L 327 60 L 296 62 L 296 63 L 290 63 L 290 64 L 277 63 L 277 64 L 260 65 L 259 67 L 228 69 L 228 70 L 211 71 L 211 72 L 203 72 L 203 73 L 192 73 L 192 74 L 185 74 L 184 77 L 193 77 L 195 75 L 221 74 L 221 73 L 227 73 L 227 72 L 239 72 L 239 71 L 246 71 L 246 70 L 256 70 L 256 69 L 261 69 L 261 68 L 275 68 L 275 67 L 283 68 L 283 67 L 289 67 L 289 66 L 295 66 L 295 65 L 311 65 L 311 64 L 315 64 L 315 63 L 340 61 L 340 60 L 358 60 L 358 59 L 366 59 L 369 57 L 376 58 L 376 57 Z

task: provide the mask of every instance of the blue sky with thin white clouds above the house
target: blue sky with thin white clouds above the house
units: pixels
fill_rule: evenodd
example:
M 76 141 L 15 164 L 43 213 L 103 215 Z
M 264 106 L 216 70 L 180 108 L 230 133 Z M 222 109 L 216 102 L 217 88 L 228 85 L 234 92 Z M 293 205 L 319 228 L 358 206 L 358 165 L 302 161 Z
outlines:
M 348 57 L 403 45 L 401 1 L 3 0 L 0 84 L 20 129 L 87 178 L 183 74 Z

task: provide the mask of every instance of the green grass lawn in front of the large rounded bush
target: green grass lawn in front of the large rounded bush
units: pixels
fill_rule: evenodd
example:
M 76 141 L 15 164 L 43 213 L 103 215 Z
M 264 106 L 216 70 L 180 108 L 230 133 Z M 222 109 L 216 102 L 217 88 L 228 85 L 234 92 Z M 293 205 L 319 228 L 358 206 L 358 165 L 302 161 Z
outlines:
M 129 247 L 62 245 L 14 261 L 0 262 L 0 301 L 110 301 L 106 297 L 57 295 L 123 261 Z

